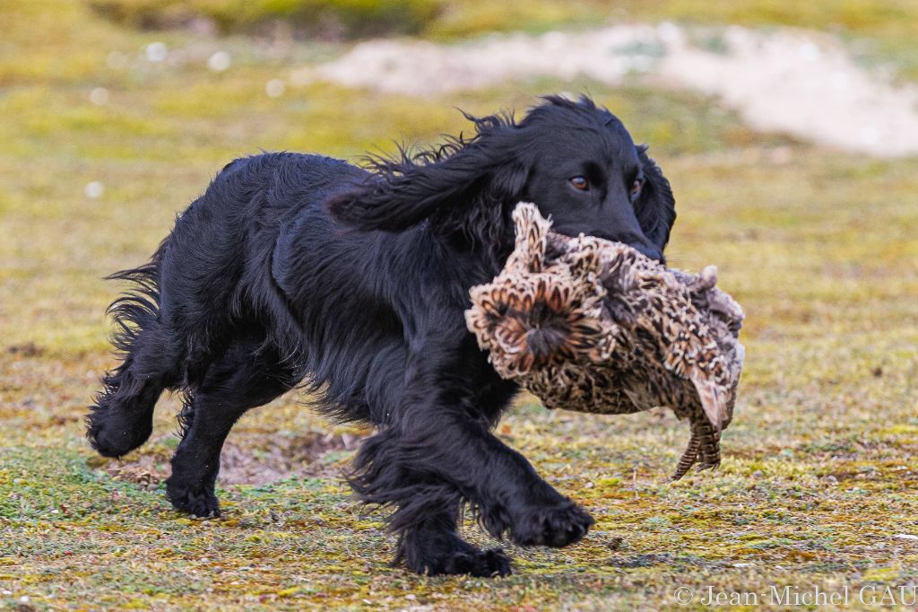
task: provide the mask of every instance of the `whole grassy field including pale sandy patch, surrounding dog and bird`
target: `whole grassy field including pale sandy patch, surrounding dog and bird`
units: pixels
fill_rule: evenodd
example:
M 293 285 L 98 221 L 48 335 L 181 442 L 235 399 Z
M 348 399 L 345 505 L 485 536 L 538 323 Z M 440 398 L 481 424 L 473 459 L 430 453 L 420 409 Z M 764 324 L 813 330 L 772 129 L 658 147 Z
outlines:
M 915 32 L 911 0 L 2 0 L 0 603 L 634 609 L 700 581 L 913 579 Z M 366 430 L 296 396 L 230 436 L 227 520 L 164 501 L 175 399 L 146 447 L 92 456 L 81 419 L 122 289 L 101 278 L 145 261 L 229 160 L 359 163 L 467 133 L 457 108 L 558 92 L 649 144 L 677 197 L 671 265 L 717 264 L 746 309 L 717 474 L 663 483 L 688 436 L 666 411 L 524 399 L 498 433 L 598 523 L 570 550 L 512 550 L 517 577 L 488 583 L 387 568 L 382 515 L 338 478 Z

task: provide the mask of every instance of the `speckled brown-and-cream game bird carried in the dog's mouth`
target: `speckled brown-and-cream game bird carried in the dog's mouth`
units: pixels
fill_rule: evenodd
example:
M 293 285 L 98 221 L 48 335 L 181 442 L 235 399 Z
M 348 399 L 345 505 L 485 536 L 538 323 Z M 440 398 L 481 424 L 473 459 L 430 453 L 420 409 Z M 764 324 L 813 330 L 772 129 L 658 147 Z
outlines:
M 672 479 L 720 465 L 733 418 L 744 313 L 717 271 L 667 269 L 630 246 L 551 232 L 532 204 L 513 213 L 516 247 L 465 313 L 498 374 L 548 408 L 631 414 L 668 406 L 689 419 Z

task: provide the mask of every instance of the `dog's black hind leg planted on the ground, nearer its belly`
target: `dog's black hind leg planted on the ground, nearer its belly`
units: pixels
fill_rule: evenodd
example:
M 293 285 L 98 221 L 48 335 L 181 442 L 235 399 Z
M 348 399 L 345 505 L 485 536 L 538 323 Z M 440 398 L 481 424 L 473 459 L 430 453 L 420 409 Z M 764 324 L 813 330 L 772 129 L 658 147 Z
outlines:
M 292 389 L 277 360 L 256 354 L 258 345 L 233 346 L 212 365 L 182 413 L 183 437 L 172 459 L 166 495 L 175 509 L 195 516 L 219 516 L 214 487 L 220 452 L 236 421 L 250 408 Z

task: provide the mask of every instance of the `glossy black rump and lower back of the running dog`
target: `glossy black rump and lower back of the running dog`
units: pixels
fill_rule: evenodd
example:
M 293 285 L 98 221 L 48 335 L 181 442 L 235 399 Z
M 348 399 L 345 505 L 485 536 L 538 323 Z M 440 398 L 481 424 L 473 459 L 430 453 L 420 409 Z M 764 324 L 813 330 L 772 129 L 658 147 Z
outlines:
M 297 217 L 362 174 L 339 160 L 296 153 L 224 168 L 176 222 L 162 258 L 162 319 L 187 339 L 187 361 L 224 350 L 240 332 L 277 336 L 271 339 L 282 351 L 294 349 L 282 337 L 293 322 L 274 278 L 274 248 Z

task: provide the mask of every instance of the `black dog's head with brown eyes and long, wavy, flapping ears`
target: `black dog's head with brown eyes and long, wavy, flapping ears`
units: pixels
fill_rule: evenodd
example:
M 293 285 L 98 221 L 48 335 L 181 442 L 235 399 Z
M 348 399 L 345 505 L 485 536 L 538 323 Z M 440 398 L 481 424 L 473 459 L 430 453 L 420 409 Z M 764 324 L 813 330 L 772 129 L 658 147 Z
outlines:
M 548 96 L 517 122 L 468 116 L 476 135 L 414 157 L 375 163 L 365 184 L 330 201 L 341 221 L 401 231 L 430 220 L 492 250 L 512 246 L 509 213 L 520 200 L 554 229 L 630 244 L 662 259 L 676 220 L 669 182 L 619 119 L 586 96 Z M 499 247 L 499 248 L 498 248 Z

